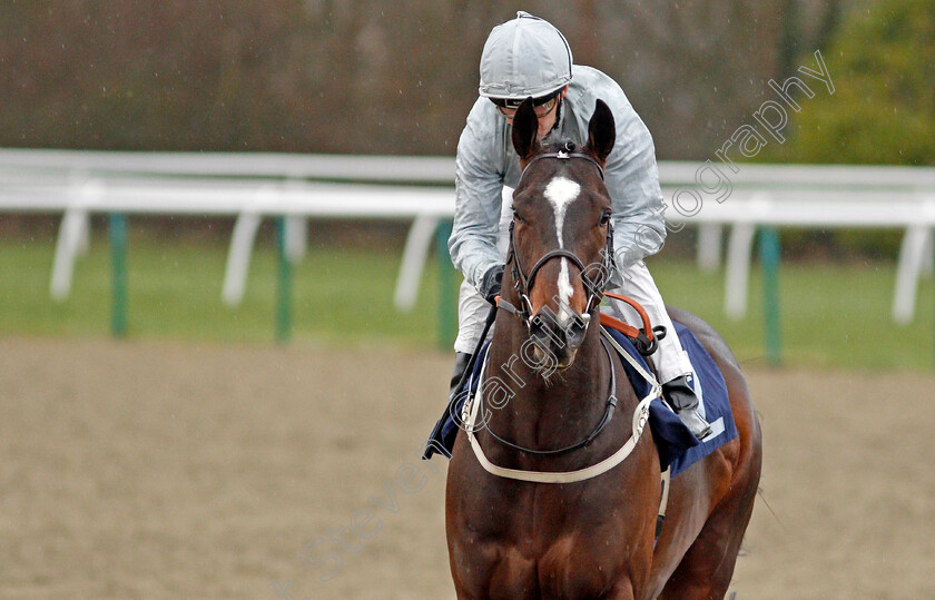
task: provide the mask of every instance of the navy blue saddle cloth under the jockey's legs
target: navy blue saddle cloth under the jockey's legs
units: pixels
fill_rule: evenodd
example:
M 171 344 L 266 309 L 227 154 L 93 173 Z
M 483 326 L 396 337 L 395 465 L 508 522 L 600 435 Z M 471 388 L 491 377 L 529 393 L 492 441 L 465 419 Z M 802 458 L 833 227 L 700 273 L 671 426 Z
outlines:
M 711 424 L 711 433 L 703 440 L 698 441 L 682 424 L 678 415 L 661 399 L 656 399 L 650 403 L 649 424 L 652 429 L 656 446 L 659 450 L 659 460 L 663 470 L 667 466 L 672 468 L 672 475 L 685 471 L 721 445 L 737 437 L 737 425 L 734 423 L 734 413 L 730 411 L 727 384 L 724 381 L 724 376 L 715 364 L 713 358 L 711 358 L 711 355 L 708 354 L 708 351 L 695 337 L 695 334 L 680 323 L 675 323 L 675 326 L 681 345 L 688 352 L 691 364 L 695 366 L 696 375 L 698 375 L 698 382 L 700 382 L 700 393 L 698 395 L 701 399 L 702 414 L 708 423 Z M 620 344 L 620 347 L 636 358 L 640 366 L 650 371 L 646 360 L 637 351 L 629 337 L 617 329 L 606 328 L 606 331 L 613 336 Z M 470 384 L 459 393 L 454 402 L 445 410 L 445 414 L 435 424 L 435 429 L 429 437 L 424 458 L 431 458 L 433 453 L 451 456 L 451 450 L 454 447 L 454 440 L 461 426 L 461 410 L 468 400 L 468 390 L 470 388 L 472 394 L 476 391 L 480 365 L 483 364 L 484 354 L 489 345 L 484 345 L 481 350 L 481 355 L 478 356 L 474 363 L 474 371 L 471 374 Z M 646 397 L 650 391 L 649 383 L 637 373 L 629 362 L 622 357 L 620 357 L 620 362 L 627 371 L 627 376 L 630 378 L 637 396 L 640 399 Z M 697 384 L 696 391 L 698 391 Z

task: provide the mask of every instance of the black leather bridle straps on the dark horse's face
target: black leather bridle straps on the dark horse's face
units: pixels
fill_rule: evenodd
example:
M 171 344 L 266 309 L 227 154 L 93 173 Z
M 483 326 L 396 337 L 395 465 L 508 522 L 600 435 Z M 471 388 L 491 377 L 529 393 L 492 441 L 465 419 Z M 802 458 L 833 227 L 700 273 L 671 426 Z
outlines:
M 601 176 L 601 180 L 603 180 L 603 167 L 594 160 L 590 155 L 584 153 L 577 153 L 574 151 L 574 144 L 571 141 L 567 141 L 561 150 L 557 153 L 547 153 L 535 156 L 532 160 L 530 160 L 525 168 L 523 169 L 522 175 L 520 176 L 520 184 L 522 184 L 522 177 L 525 175 L 529 167 L 532 166 L 533 163 L 537 160 L 542 160 L 543 158 L 554 158 L 558 160 L 569 160 L 572 158 L 580 158 L 588 160 L 592 165 L 598 168 L 598 174 Z M 519 186 L 516 186 L 519 187 Z M 506 264 L 510 265 L 511 273 L 513 275 L 513 287 L 516 291 L 516 294 L 520 296 L 520 306 L 514 307 L 509 302 L 504 299 L 499 301 L 499 306 L 504 308 L 508 312 L 513 313 L 518 317 L 520 317 L 523 323 L 525 323 L 526 328 L 532 326 L 532 301 L 529 297 L 530 291 L 532 289 L 533 284 L 535 283 L 535 275 L 539 273 L 545 263 L 553 258 L 568 258 L 571 263 L 577 266 L 581 272 L 581 279 L 584 283 L 584 287 L 588 289 L 588 304 L 584 308 L 584 324 L 587 325 L 591 318 L 591 312 L 601 303 L 603 299 L 603 291 L 607 286 L 607 281 L 609 278 L 609 274 L 611 269 L 614 267 L 613 262 L 613 222 L 608 222 L 607 224 L 607 246 L 604 247 L 603 257 L 601 258 L 600 269 L 598 276 L 591 278 L 588 276 L 588 269 L 581 258 L 578 257 L 577 254 L 570 250 L 565 250 L 563 248 L 557 248 L 553 250 L 549 250 L 542 255 L 539 260 L 532 266 L 529 271 L 529 274 L 523 273 L 522 264 L 520 263 L 520 255 L 516 253 L 516 247 L 513 242 L 513 229 L 516 222 L 515 219 L 510 222 L 510 247 L 506 253 Z M 561 240 L 560 240 L 561 242 Z

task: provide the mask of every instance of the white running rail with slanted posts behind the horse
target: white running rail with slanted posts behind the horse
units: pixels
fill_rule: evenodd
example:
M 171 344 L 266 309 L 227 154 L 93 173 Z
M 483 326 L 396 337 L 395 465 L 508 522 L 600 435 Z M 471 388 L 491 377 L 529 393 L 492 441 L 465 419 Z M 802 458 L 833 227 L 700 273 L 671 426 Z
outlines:
M 932 271 L 935 168 L 738 167 L 735 174 L 720 166 L 731 191 L 719 203 L 705 195 L 705 164 L 659 164 L 667 204 L 672 205 L 676 193 L 686 188 L 702 200 L 691 217 L 671 206 L 666 214 L 672 226 L 699 226 L 700 268 L 718 266 L 722 232 L 731 227 L 726 258 L 728 315 L 746 313 L 758 226 L 895 227 L 906 233 L 893 316 L 898 323 L 913 318 L 919 276 Z M 416 299 L 432 233 L 453 215 L 453 180 L 454 159 L 449 157 L 0 149 L 0 213 L 62 215 L 50 282 L 55 298 L 69 293 L 75 257 L 87 247 L 90 214 L 236 216 L 222 291 L 229 304 L 243 297 L 255 234 L 264 217 L 287 217 L 292 259 L 304 254 L 307 217 L 412 219 L 395 294 L 396 306 L 409 309 Z

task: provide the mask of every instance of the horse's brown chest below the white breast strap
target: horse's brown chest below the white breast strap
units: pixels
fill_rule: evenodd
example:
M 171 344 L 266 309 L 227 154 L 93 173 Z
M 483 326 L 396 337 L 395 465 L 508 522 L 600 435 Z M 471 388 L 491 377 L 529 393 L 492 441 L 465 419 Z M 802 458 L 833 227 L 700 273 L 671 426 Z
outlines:
M 511 599 L 613 598 L 612 590 L 641 589 L 658 491 L 637 489 L 634 469 L 622 464 L 600 480 L 567 485 L 518 484 L 485 476 L 470 450 L 456 453 L 447 490 L 456 588 Z

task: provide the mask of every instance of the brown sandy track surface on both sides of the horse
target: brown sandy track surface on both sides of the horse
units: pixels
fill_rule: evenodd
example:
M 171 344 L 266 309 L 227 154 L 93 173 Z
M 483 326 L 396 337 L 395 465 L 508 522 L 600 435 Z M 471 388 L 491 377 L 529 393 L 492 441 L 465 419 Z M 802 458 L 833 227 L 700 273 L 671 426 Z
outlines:
M 417 460 L 450 361 L 0 340 L 0 597 L 453 598 Z M 737 598 L 935 598 L 935 377 L 748 376 L 771 511 Z

